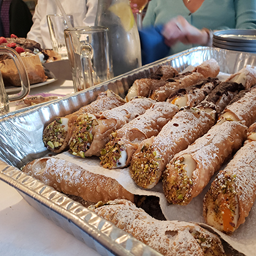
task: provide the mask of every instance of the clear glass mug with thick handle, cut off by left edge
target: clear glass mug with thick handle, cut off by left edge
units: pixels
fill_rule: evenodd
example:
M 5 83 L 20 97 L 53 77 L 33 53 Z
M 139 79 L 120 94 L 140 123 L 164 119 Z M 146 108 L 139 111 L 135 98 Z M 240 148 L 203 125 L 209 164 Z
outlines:
M 20 55 L 18 55 L 17 51 L 13 50 L 9 47 L 0 46 L 0 55 L 8 55 L 15 63 L 15 66 L 18 69 L 18 73 L 20 75 L 21 80 L 21 91 L 17 94 L 7 95 L 6 89 L 4 88 L 4 82 L 2 81 L 2 74 L 0 72 L 0 115 L 3 115 L 9 112 L 9 102 L 13 102 L 15 100 L 24 99 L 24 97 L 28 96 L 30 85 L 28 79 L 28 73 L 24 67 L 24 64 L 21 60 Z M 1 64 L 0 64 L 1 69 Z

